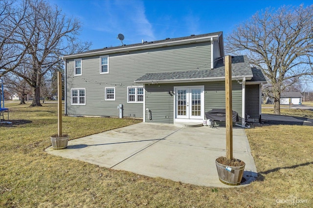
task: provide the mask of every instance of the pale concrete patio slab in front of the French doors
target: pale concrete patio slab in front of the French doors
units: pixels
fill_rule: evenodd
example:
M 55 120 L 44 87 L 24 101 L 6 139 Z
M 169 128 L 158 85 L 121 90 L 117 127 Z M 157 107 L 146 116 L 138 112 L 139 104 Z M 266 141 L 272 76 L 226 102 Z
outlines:
M 225 128 L 178 127 L 138 123 L 70 140 L 67 149 L 46 152 L 101 167 L 209 187 L 232 187 L 219 181 L 215 159 L 225 156 Z M 257 178 L 244 129 L 233 129 L 233 155 L 246 163 L 245 186 Z

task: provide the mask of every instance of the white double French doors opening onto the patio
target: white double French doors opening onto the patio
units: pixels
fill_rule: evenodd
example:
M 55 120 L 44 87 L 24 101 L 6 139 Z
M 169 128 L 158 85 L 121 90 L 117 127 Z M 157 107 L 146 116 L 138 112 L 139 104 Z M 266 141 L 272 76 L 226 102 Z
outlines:
M 175 87 L 175 121 L 200 121 L 204 118 L 204 87 Z

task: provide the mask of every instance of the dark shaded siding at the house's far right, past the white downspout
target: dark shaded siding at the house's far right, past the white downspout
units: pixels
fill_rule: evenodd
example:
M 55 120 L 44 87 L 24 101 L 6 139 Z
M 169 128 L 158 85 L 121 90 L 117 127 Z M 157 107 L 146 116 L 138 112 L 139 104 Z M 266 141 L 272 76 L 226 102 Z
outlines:
M 246 85 L 246 113 L 250 118 L 259 118 L 259 85 Z

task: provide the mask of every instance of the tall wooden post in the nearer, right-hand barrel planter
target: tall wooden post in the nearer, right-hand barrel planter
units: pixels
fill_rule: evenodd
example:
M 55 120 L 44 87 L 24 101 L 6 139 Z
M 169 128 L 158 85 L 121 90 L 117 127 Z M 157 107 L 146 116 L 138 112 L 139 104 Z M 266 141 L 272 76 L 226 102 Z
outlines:
M 226 157 L 233 159 L 231 56 L 225 57 Z

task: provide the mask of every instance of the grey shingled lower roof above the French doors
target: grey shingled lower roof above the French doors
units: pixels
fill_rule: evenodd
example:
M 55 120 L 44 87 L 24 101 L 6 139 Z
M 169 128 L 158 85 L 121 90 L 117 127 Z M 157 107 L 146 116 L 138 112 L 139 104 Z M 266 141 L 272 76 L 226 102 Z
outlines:
M 232 57 L 232 77 L 252 77 L 252 70 L 246 56 Z M 141 76 L 135 82 L 144 81 L 175 81 L 188 79 L 212 79 L 225 77 L 225 65 L 223 58 L 217 59 L 216 67 L 208 70 L 190 70 L 166 73 L 148 73 Z

